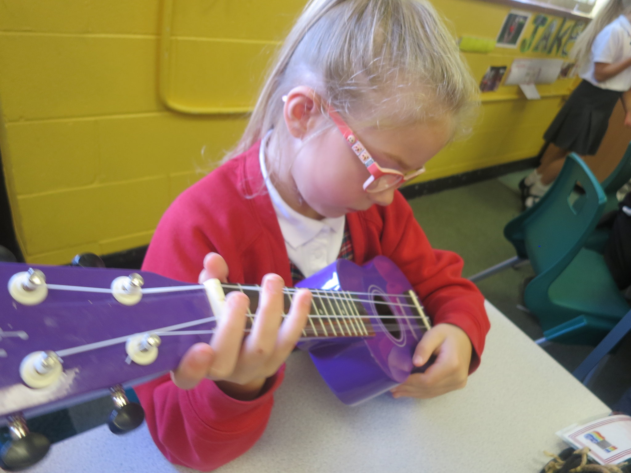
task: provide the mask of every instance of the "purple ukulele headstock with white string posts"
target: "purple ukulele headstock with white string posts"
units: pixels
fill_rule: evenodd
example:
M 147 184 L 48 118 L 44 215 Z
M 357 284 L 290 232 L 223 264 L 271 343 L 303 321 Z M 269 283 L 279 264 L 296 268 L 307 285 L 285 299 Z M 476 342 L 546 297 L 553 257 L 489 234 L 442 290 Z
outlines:
M 19 368 L 22 359 L 39 350 L 59 351 L 136 333 L 211 317 L 203 290 L 144 295 L 132 307 L 121 305 L 109 294 L 69 292 L 50 289 L 45 301 L 25 306 L 13 300 L 7 283 L 13 274 L 29 267 L 41 269 L 47 284 L 68 284 L 109 288 L 118 276 L 129 276 L 128 269 L 95 269 L 68 266 L 0 263 L 0 416 L 16 411 L 34 415 L 72 404 L 66 399 L 86 397 L 90 392 L 117 384 L 131 385 L 175 368 L 186 350 L 209 335 L 163 336 L 159 356 L 148 366 L 127 364 L 124 343 L 64 356 L 64 375 L 53 387 L 35 390 L 24 385 Z M 150 272 L 140 272 L 144 288 L 186 286 Z M 208 330 L 214 322 L 188 330 Z M 24 330 L 27 340 L 6 337 L 3 332 Z M 6 353 L 6 354 L 4 354 Z

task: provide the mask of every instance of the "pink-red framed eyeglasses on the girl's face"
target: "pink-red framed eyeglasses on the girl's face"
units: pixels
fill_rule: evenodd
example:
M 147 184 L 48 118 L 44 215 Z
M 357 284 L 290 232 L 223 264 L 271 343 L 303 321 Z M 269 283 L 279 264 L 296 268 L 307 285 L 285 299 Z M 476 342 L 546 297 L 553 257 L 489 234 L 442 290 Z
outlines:
M 382 192 L 396 185 L 401 185 L 406 182 L 406 180 L 415 178 L 425 172 L 425 166 L 405 174 L 396 169 L 382 168 L 375 163 L 375 160 L 372 159 L 372 156 L 370 156 L 365 146 L 357 139 L 355 133 L 353 133 L 346 122 L 342 120 L 338 112 L 333 110 L 333 108 L 328 108 L 328 113 L 333 123 L 346 138 L 351 149 L 353 149 L 357 157 L 362 160 L 363 165 L 366 166 L 370 173 L 370 177 L 363 183 L 363 190 L 366 192 Z

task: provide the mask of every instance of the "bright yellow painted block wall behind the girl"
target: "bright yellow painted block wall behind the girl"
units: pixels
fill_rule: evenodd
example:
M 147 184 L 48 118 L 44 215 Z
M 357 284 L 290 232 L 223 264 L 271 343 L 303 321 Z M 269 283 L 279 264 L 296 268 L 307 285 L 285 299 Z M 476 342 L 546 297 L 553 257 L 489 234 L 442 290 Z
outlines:
M 26 259 L 62 264 L 148 243 L 174 197 L 239 138 L 269 54 L 303 4 L 1 2 L 0 151 Z M 435 4 L 458 35 L 495 38 L 509 11 Z M 465 55 L 479 81 L 524 54 Z M 485 93 L 473 135 L 434 158 L 423 179 L 533 156 L 570 82 L 541 86 L 536 102 L 516 86 Z

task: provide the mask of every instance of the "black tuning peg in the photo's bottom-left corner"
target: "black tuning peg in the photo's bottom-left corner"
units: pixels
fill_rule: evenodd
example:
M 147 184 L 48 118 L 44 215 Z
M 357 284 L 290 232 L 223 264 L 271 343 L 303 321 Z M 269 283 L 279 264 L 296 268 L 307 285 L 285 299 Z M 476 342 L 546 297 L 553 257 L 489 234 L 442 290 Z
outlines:
M 50 441 L 44 435 L 29 432 L 21 414 L 9 417 L 11 440 L 0 449 L 0 467 L 18 471 L 35 465 L 46 456 Z

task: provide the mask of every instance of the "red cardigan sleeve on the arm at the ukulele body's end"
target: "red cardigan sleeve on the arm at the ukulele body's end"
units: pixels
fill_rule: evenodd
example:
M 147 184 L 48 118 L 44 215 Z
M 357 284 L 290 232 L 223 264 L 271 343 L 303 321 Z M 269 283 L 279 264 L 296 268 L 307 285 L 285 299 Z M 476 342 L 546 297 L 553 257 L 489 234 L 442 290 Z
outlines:
M 453 324 L 471 340 L 473 353 L 469 373 L 480 365 L 480 356 L 490 328 L 484 297 L 475 284 L 461 276 L 463 260 L 454 252 L 435 250 L 416 221 L 404 197 L 380 210 L 380 235 L 384 255 L 394 261 L 415 288 L 433 324 Z

